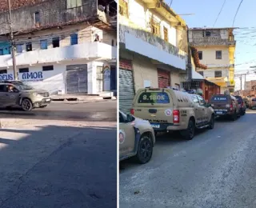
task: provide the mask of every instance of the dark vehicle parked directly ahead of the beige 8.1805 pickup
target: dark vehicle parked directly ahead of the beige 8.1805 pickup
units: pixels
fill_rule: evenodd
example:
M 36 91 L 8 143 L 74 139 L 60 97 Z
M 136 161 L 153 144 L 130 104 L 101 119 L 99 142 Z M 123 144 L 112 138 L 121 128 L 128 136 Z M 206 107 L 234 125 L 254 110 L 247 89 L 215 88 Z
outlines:
M 240 117 L 238 101 L 230 94 L 214 94 L 210 98 L 210 105 L 214 108 L 215 114 L 220 117 L 228 116 L 233 121 Z

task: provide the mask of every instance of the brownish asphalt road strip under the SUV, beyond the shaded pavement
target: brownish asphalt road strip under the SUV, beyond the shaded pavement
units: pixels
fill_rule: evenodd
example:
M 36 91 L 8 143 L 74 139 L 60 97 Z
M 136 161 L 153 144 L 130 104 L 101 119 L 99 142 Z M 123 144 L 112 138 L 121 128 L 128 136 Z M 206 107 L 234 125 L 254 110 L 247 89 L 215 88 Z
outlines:
M 116 122 L 117 102 L 52 102 L 46 108 L 24 112 L 20 109 L 0 109 L 0 118 L 23 118 L 41 120 L 69 120 Z

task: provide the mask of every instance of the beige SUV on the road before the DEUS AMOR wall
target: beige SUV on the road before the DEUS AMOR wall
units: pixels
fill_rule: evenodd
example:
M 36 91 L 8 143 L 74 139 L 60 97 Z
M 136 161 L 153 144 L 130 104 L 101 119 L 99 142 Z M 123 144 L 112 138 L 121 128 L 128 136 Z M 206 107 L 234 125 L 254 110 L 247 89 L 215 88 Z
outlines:
M 46 90 L 35 90 L 19 81 L 0 82 L 0 106 L 20 106 L 24 111 L 33 108 L 45 108 L 51 102 L 50 94 Z

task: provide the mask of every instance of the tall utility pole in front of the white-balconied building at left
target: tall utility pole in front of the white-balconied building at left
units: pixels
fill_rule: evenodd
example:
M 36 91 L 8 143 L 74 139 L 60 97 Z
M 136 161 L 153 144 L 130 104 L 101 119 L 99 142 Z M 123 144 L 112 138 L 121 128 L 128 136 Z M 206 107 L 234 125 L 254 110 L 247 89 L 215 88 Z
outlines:
M 13 58 L 14 79 L 18 80 L 18 73 L 17 73 L 17 67 L 16 67 L 16 46 L 14 42 L 14 31 L 12 27 L 10 0 L 8 0 L 8 7 L 9 7 L 10 42 L 11 42 L 11 54 Z

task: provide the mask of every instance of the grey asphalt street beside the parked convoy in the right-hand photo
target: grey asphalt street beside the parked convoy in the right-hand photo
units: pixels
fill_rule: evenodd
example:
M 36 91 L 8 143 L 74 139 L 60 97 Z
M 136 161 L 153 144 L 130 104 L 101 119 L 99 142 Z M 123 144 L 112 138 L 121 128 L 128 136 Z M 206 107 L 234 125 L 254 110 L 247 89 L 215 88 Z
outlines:
M 256 110 L 191 141 L 157 138 L 149 163 L 120 163 L 120 208 L 256 207 Z

